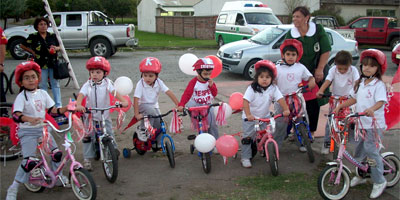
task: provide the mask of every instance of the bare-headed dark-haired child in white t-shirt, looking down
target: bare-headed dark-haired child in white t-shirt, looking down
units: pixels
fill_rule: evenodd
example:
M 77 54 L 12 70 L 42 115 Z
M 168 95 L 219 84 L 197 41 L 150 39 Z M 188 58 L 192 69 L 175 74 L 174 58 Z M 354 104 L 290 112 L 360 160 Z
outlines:
M 356 67 L 351 65 L 352 56 L 348 51 L 339 51 L 335 57 L 335 66 L 333 66 L 317 92 L 317 98 L 321 98 L 325 90 L 332 83 L 332 95 L 348 96 L 351 89 L 354 87 L 356 80 L 360 77 Z M 331 108 L 330 108 L 331 109 Z M 329 110 L 331 113 L 332 110 Z M 325 140 L 322 146 L 321 154 L 328 154 L 330 148 L 329 126 L 326 123 Z

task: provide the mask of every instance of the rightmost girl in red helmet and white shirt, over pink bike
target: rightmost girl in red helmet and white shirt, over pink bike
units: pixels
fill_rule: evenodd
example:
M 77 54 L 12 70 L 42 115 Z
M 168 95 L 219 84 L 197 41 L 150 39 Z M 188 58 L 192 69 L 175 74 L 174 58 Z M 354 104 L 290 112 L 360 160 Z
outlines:
M 356 81 L 354 90 L 350 93 L 350 99 L 337 106 L 333 112 L 356 104 L 356 112 L 365 112 L 366 116 L 360 117 L 359 123 L 364 133 L 364 140 L 356 145 L 355 156 L 357 160 L 368 157 L 371 165 L 371 179 L 374 182 L 370 198 L 379 197 L 386 188 L 386 179 L 383 177 L 382 157 L 379 153 L 379 141 L 386 128 L 384 106 L 387 103 L 386 87 L 382 81 L 382 75 L 387 69 L 386 56 L 379 50 L 367 49 L 361 53 L 361 77 Z M 376 123 L 373 123 L 375 117 Z M 366 183 L 367 180 L 355 176 L 350 183 L 351 187 Z

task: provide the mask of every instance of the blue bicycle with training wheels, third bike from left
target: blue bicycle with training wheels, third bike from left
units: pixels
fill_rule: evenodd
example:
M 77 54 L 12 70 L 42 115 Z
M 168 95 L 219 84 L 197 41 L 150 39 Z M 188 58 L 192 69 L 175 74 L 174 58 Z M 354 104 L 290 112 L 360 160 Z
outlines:
M 153 145 L 157 145 L 157 135 L 156 132 L 157 130 L 153 128 L 150 124 L 149 119 L 150 118 L 158 118 L 160 119 L 160 132 L 159 134 L 162 134 L 161 136 L 161 149 L 162 153 L 164 155 L 167 155 L 169 165 L 171 168 L 175 168 L 175 144 L 174 140 L 172 137 L 167 133 L 166 126 L 165 126 L 165 121 L 163 120 L 163 117 L 169 115 L 173 110 L 168 111 L 165 114 L 161 115 L 145 115 L 143 116 L 143 119 L 145 121 L 145 127 L 146 129 L 144 130 L 144 138 L 141 138 L 136 131 L 133 133 L 133 148 L 124 148 L 122 154 L 124 158 L 130 158 L 131 157 L 131 151 L 136 150 L 136 152 L 139 155 L 144 155 L 148 150 L 153 149 L 154 152 L 158 151 L 159 149 L 157 147 L 153 147 Z M 139 130 L 142 131 L 142 130 Z M 164 142 L 164 139 L 168 138 Z M 145 141 L 143 141 L 145 140 Z

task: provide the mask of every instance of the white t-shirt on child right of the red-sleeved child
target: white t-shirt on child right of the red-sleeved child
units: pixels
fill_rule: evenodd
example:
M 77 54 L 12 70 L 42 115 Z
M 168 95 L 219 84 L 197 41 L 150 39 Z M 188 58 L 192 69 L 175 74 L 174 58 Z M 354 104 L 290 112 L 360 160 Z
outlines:
M 270 85 L 267 90 L 263 90 L 262 93 L 255 92 L 250 85 L 243 95 L 243 99 L 249 101 L 250 113 L 258 118 L 269 117 L 269 107 L 272 101 L 278 101 L 281 98 L 283 98 L 282 93 L 274 84 Z M 242 119 L 245 118 L 246 113 L 243 111 Z

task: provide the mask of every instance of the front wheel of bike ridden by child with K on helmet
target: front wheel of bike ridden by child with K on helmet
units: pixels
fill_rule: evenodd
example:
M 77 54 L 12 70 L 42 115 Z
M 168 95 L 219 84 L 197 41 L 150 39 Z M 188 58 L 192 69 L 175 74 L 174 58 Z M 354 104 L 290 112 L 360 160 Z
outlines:
M 104 160 L 102 160 L 102 162 L 104 175 L 106 175 L 106 178 L 110 183 L 114 183 L 118 177 L 118 157 L 111 140 L 104 142 L 103 155 Z

